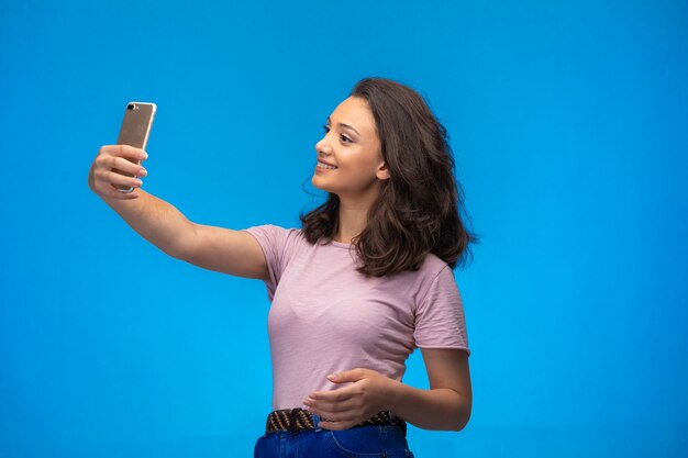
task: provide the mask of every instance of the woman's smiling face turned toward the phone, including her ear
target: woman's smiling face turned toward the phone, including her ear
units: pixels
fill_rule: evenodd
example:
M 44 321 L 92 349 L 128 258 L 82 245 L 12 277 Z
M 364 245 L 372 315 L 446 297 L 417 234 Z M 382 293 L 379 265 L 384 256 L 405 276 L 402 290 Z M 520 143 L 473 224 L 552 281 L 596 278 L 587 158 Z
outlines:
M 388 179 L 389 171 L 368 102 L 349 97 L 332 112 L 323 129 L 324 136 L 315 144 L 313 186 L 340 199 L 375 198 L 379 181 Z

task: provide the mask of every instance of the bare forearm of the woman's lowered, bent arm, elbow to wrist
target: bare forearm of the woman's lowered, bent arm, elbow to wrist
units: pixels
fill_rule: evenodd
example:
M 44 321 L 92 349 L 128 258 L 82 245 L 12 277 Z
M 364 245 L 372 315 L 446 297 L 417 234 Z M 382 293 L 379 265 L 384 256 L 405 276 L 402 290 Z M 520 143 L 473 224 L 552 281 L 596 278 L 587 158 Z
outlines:
M 460 431 L 470 418 L 470 402 L 448 388 L 421 390 L 392 380 L 389 409 L 423 429 Z

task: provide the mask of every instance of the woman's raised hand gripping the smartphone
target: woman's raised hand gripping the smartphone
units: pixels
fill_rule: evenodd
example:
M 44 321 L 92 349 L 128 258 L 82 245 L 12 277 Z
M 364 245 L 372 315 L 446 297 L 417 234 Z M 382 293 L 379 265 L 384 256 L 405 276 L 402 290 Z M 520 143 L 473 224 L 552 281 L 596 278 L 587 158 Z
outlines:
M 143 161 L 147 157 L 145 150 L 129 145 L 102 146 L 88 172 L 89 188 L 101 198 L 120 200 L 138 198 L 136 189 L 141 187 L 142 181 L 124 174 L 145 177 L 147 175 L 146 169 L 129 159 Z M 134 190 L 125 193 L 115 188 L 114 185 L 131 187 Z

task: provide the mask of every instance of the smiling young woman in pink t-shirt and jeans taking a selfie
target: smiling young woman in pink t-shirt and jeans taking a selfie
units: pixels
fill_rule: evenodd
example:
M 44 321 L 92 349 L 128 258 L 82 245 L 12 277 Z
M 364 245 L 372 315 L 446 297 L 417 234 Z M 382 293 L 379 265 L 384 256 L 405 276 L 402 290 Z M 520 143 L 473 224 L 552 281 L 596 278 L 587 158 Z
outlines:
M 302 228 L 188 221 L 136 189 L 129 146 L 101 147 L 89 187 L 136 232 L 193 265 L 260 279 L 271 301 L 273 409 L 256 457 L 412 457 L 406 424 L 460 431 L 471 410 L 468 339 L 453 269 L 477 237 L 460 219 L 446 131 L 414 90 L 360 80 L 328 118 Z M 430 389 L 402 383 L 421 348 Z

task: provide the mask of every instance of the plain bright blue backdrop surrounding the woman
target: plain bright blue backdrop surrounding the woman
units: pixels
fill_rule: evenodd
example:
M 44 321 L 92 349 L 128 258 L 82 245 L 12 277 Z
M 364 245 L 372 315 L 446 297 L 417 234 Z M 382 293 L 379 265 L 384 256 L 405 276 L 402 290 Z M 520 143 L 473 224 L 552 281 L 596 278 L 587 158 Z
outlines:
M 144 189 L 296 226 L 365 76 L 429 99 L 482 235 L 473 416 L 411 427 L 417 457 L 688 455 L 685 1 L 2 1 L 0 38 L 0 456 L 251 456 L 263 283 L 166 256 L 88 169 L 153 101 Z

